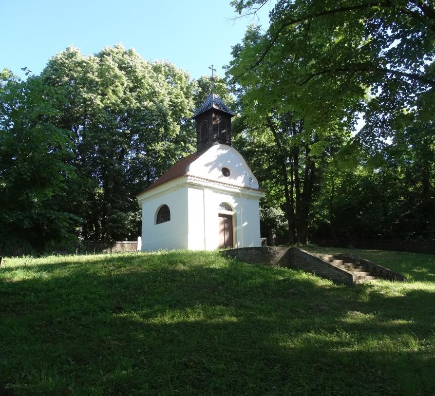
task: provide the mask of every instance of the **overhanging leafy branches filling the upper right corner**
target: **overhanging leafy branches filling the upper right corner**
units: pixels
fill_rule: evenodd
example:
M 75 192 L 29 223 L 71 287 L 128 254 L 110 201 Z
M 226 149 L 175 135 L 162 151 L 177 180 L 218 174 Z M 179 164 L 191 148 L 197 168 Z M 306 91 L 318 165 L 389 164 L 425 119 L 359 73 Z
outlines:
M 234 0 L 239 13 L 255 12 L 267 1 Z M 298 60 L 302 65 L 287 78 L 276 78 L 274 90 L 346 81 L 346 90 L 369 93 L 361 101 L 365 146 L 382 146 L 394 133 L 394 120 L 404 109 L 434 113 L 435 4 L 433 1 L 279 0 L 270 14 L 270 27 L 236 78 L 259 65 L 281 69 Z M 324 45 L 324 39 L 328 40 Z M 300 91 L 298 89 L 298 91 Z M 428 94 L 429 93 L 429 94 Z M 425 94 L 425 100 L 419 100 Z M 304 106 L 313 97 L 301 96 Z M 335 93 L 320 90 L 325 111 L 336 105 Z M 361 95 L 363 99 L 363 95 Z

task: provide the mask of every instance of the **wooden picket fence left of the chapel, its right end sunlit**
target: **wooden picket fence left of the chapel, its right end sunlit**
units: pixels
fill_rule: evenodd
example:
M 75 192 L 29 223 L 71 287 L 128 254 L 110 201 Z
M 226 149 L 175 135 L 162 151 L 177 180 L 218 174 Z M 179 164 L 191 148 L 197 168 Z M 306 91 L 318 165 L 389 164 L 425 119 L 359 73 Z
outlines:
M 79 243 L 54 245 L 47 248 L 44 254 L 86 254 L 86 253 L 114 253 L 114 252 L 135 252 L 137 241 L 117 241 L 117 242 L 92 242 L 83 241 Z M 17 257 L 35 254 L 30 246 L 17 244 L 1 244 L 0 257 Z

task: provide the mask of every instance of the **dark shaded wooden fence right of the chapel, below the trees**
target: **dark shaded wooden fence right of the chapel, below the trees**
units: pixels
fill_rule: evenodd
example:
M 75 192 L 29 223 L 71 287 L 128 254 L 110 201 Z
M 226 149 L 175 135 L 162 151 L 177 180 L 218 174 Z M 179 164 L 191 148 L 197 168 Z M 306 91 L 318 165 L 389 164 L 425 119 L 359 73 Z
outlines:
M 435 254 L 435 244 L 426 242 L 389 241 L 376 239 L 329 239 L 310 238 L 310 242 L 319 246 L 355 247 L 357 249 L 393 250 L 399 252 Z

